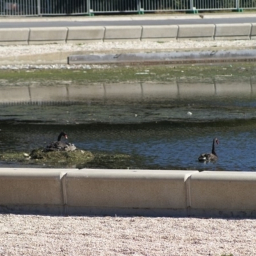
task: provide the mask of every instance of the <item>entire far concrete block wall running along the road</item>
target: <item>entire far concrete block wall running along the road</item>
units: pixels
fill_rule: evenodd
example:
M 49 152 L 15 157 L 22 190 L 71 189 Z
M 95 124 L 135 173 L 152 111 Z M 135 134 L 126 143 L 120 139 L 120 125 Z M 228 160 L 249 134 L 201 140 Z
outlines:
M 241 40 L 255 37 L 255 23 L 0 29 L 0 45 L 127 40 Z

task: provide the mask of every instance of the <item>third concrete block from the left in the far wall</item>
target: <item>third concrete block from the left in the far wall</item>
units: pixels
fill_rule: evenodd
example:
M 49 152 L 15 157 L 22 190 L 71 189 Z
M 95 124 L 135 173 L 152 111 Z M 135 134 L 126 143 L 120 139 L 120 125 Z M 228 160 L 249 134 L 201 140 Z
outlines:
M 102 42 L 104 27 L 69 27 L 67 43 Z

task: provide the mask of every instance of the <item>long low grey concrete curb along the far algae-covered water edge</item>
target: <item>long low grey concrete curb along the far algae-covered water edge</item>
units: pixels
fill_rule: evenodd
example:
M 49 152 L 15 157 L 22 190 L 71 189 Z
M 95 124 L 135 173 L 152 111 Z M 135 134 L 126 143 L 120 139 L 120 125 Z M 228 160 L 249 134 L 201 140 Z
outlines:
M 84 54 L 68 56 L 68 64 L 198 63 L 216 61 L 255 61 L 256 50 L 138 52 L 125 54 Z

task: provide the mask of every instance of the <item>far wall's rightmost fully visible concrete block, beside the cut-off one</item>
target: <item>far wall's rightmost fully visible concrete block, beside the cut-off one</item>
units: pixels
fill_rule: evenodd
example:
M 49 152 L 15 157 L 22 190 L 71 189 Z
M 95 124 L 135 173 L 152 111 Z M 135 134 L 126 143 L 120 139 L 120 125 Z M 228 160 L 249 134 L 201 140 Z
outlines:
M 250 39 L 252 24 L 216 24 L 215 40 Z

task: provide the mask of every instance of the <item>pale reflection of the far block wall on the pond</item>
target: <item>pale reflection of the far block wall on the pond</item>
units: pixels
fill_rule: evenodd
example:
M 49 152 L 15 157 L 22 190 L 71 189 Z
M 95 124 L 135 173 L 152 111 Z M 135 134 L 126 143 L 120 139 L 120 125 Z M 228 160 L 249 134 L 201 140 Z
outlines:
M 177 99 L 187 97 L 256 95 L 256 83 L 246 81 L 205 82 L 172 81 L 170 83 L 113 83 L 62 86 L 0 87 L 0 104 L 67 104 L 90 100 L 138 101 Z

